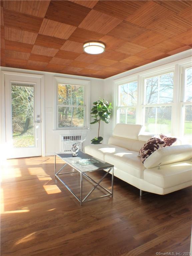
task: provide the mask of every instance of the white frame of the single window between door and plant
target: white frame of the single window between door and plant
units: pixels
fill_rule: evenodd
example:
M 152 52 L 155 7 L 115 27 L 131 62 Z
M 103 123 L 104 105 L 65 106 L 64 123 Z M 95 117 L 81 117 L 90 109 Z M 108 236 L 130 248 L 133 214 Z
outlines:
M 58 84 L 69 84 L 69 85 L 79 85 L 84 86 L 84 105 L 81 107 L 85 108 L 85 115 L 84 115 L 84 127 L 90 128 L 90 80 L 82 80 L 82 79 L 73 79 L 73 78 L 66 78 L 66 77 L 57 77 L 54 76 L 54 115 L 53 115 L 53 130 L 71 130 L 71 129 L 79 129 L 82 127 L 58 127 Z M 70 105 L 70 107 L 73 107 Z M 74 106 L 76 107 L 76 106 Z

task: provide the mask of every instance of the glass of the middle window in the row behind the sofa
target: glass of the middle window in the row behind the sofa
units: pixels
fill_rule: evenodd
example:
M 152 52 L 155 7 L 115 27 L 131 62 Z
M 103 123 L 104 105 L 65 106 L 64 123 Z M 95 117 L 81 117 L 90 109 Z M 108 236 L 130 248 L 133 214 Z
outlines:
M 145 131 L 171 133 L 173 72 L 144 79 Z

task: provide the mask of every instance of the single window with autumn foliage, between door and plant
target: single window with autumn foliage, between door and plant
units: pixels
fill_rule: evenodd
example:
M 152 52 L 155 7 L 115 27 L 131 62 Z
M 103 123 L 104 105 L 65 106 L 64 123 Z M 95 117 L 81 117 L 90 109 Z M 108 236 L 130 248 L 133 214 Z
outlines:
M 89 81 L 56 78 L 56 129 L 85 127 L 89 124 L 87 111 Z

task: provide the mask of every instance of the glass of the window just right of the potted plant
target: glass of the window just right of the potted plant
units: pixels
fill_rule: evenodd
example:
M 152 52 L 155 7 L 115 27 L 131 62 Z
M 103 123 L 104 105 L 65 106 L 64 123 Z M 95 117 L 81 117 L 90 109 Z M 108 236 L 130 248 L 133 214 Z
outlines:
M 117 123 L 135 124 L 137 106 L 137 81 L 118 86 Z

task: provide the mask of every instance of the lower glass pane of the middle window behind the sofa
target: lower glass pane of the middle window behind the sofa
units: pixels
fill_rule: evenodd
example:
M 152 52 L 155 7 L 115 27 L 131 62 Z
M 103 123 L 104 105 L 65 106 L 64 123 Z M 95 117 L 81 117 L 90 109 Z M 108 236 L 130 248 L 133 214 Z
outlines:
M 146 107 L 145 131 L 150 133 L 171 133 L 171 106 Z

